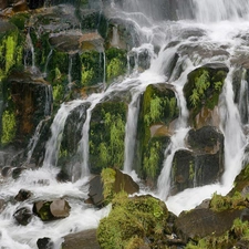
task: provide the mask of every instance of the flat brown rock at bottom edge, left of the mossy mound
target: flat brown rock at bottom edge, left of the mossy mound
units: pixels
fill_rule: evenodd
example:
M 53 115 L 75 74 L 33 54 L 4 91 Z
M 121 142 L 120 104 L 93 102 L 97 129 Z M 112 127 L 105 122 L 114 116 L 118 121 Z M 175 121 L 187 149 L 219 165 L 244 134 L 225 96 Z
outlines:
M 85 230 L 68 235 L 62 242 L 63 249 L 101 249 L 96 240 L 96 230 Z

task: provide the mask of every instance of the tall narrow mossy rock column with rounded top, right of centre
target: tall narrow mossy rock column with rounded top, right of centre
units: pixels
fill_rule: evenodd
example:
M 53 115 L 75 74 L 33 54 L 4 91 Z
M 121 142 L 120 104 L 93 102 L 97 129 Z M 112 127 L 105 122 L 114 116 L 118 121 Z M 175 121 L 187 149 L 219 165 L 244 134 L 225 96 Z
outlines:
M 174 91 L 166 84 L 148 85 L 141 100 L 137 125 L 138 144 L 135 164 L 139 165 L 137 172 L 143 178 L 155 179 L 158 176 L 169 137 L 169 133 L 155 135 L 151 128 L 162 125 L 167 129 L 177 116 L 178 107 Z

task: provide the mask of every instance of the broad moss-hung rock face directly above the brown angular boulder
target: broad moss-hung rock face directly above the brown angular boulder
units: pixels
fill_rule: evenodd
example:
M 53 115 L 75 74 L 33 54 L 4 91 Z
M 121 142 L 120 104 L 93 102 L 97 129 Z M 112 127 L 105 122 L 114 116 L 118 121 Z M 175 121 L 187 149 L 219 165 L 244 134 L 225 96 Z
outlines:
M 122 168 L 127 105 L 104 102 L 95 106 L 90 123 L 90 168 L 98 173 L 105 167 Z

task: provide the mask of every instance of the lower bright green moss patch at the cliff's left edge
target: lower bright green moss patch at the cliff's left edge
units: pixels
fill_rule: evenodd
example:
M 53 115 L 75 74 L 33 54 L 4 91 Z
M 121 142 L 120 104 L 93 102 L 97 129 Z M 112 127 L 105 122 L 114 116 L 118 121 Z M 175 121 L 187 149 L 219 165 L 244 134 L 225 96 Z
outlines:
M 2 135 L 1 144 L 6 145 L 13 141 L 17 132 L 17 121 L 14 113 L 4 111 L 2 114 Z

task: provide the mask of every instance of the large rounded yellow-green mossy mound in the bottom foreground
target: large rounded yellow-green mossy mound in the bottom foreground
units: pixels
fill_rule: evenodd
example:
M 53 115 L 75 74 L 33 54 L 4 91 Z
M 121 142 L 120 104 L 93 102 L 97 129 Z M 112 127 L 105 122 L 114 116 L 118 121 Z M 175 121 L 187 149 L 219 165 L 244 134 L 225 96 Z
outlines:
M 128 249 L 138 248 L 144 238 L 149 238 L 153 248 L 164 236 L 167 216 L 165 203 L 149 195 L 117 195 L 108 217 L 100 222 L 97 241 L 103 249 Z

